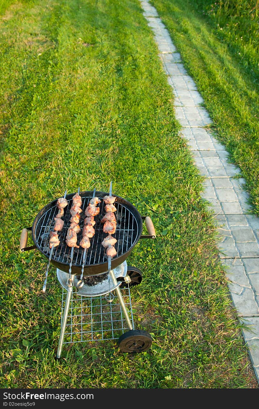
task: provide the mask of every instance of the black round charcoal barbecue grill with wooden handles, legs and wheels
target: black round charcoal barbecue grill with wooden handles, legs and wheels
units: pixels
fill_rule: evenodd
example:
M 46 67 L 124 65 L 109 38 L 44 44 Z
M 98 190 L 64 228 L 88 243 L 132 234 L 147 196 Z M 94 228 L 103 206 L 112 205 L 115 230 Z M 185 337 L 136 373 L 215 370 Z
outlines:
M 90 238 L 91 245 L 85 251 L 82 247 L 68 247 L 65 238 L 70 226 L 74 194 L 64 195 L 68 205 L 62 216 L 64 226 L 59 234 L 60 243 L 57 247 L 50 250 L 49 244 L 50 231 L 54 229 L 54 217 L 57 213 L 57 199 L 38 212 L 32 227 L 23 229 L 20 237 L 20 251 L 38 249 L 48 260 L 43 292 L 50 264 L 56 267 L 58 281 L 63 287 L 61 334 L 56 356 L 61 357 L 63 343 L 104 339 L 117 339 L 123 352 L 146 351 L 151 346 L 152 338 L 146 331 L 134 328 L 131 305 L 131 288 L 140 284 L 142 273 L 136 267 L 129 267 L 126 258 L 140 238 L 155 238 L 153 223 L 149 217 L 142 217 L 130 202 L 113 194 L 116 197 L 116 231 L 113 236 L 117 239 L 117 255 L 111 259 L 106 256 L 106 249 L 101 245 L 106 236 L 101 223 L 106 213 L 103 198 L 111 196 L 111 185 L 109 193 L 95 190 L 80 192 L 83 210 L 79 222 L 81 231 L 84 211 L 90 199 L 97 196 L 101 200 L 99 215 L 95 217 L 95 235 Z M 148 235 L 142 235 L 143 220 Z M 27 247 L 30 230 L 34 245 Z M 98 324 L 100 328 L 97 328 Z M 118 336 L 119 331 L 122 331 L 121 336 Z

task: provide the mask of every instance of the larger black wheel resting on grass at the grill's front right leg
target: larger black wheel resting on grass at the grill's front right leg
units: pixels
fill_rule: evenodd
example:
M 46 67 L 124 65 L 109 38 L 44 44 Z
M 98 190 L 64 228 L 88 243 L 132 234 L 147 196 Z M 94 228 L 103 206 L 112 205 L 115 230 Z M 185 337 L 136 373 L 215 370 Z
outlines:
M 122 352 L 138 353 L 151 347 L 151 335 L 143 330 L 130 330 L 122 334 L 118 339 L 118 346 Z

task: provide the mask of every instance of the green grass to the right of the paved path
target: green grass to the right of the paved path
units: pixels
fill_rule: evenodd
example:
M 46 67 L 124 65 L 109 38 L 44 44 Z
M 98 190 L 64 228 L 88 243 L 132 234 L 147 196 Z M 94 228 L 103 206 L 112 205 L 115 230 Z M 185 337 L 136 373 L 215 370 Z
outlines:
M 259 5 L 152 0 L 259 216 Z

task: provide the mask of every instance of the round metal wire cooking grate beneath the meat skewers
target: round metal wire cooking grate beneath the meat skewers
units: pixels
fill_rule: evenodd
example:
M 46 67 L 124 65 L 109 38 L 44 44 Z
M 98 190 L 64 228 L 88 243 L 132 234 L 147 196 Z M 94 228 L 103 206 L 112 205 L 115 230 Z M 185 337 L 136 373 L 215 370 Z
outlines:
M 98 195 L 97 195 L 98 197 Z M 89 204 L 90 199 L 92 196 L 81 196 L 82 198 L 82 206 L 81 209 L 83 210 L 81 213 L 81 219 L 79 222 L 79 226 L 81 231 L 77 234 L 77 243 L 79 244 L 81 237 L 82 237 L 82 230 L 83 230 L 83 220 L 85 218 L 84 211 Z M 100 197 L 102 199 L 102 197 Z M 59 246 L 54 248 L 52 254 L 52 260 L 61 262 L 61 263 L 70 263 L 70 254 L 71 254 L 71 247 L 68 247 L 65 243 L 65 238 L 67 235 L 68 228 L 70 226 L 70 209 L 73 205 L 72 198 L 68 199 L 68 206 L 64 209 L 64 227 L 62 231 L 59 233 Z M 124 254 L 135 242 L 137 235 L 138 235 L 138 224 L 134 214 L 131 212 L 130 209 L 127 208 L 126 205 L 115 202 L 114 203 L 117 211 L 115 212 L 115 217 L 117 221 L 117 227 L 115 234 L 113 236 L 117 239 L 117 243 L 115 244 L 115 249 L 117 251 L 117 256 L 119 257 Z M 103 224 L 101 223 L 101 219 L 104 217 L 105 211 L 105 203 L 101 200 L 99 204 L 100 213 L 99 215 L 95 216 L 96 224 L 94 226 L 95 235 L 90 238 L 90 247 L 87 249 L 86 253 L 86 262 L 85 265 L 94 265 L 99 263 L 105 263 L 107 261 L 106 257 L 106 249 L 101 245 L 101 242 L 106 237 L 106 233 L 103 231 Z M 56 205 L 52 206 L 50 209 L 45 211 L 41 218 L 39 218 L 36 228 L 35 228 L 35 238 L 36 243 L 40 247 L 41 251 L 47 256 L 47 253 L 50 251 L 49 248 L 49 235 L 50 231 L 54 229 L 54 217 L 57 214 L 57 207 Z M 79 249 L 74 248 L 74 256 L 72 265 L 80 266 L 83 261 L 83 248 L 79 247 Z M 114 257 L 114 258 L 116 258 Z

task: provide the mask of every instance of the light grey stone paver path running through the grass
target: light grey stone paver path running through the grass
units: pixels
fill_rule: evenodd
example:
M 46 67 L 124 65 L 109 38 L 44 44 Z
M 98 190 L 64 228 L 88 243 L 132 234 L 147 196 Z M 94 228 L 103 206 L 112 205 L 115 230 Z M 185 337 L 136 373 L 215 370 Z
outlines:
M 200 104 L 202 97 L 187 74 L 169 32 L 148 0 L 140 0 L 153 30 L 168 82 L 175 95 L 175 112 L 200 173 L 205 176 L 202 197 L 218 220 L 219 256 L 239 319 L 243 337 L 259 382 L 259 218 L 249 214 L 245 180 L 227 160 L 225 147 L 209 132 L 212 121 Z

